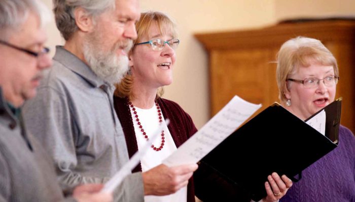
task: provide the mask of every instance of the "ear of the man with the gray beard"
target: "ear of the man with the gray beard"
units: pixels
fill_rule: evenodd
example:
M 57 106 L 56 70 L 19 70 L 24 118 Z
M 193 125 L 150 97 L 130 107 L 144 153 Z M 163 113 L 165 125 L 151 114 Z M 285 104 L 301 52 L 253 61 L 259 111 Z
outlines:
M 93 17 L 89 16 L 84 8 L 78 7 L 74 10 L 75 22 L 83 32 L 91 32 L 94 29 Z

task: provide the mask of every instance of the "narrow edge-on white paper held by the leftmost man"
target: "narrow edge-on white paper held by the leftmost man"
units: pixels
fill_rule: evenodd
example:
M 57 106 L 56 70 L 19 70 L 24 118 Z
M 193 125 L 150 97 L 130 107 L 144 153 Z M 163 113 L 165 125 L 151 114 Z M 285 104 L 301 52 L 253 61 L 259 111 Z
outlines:
M 169 125 L 170 120 L 165 119 L 165 123 L 166 123 L 166 125 Z M 105 183 L 104 187 L 101 189 L 101 192 L 112 193 L 116 189 L 116 187 L 121 184 L 123 179 L 127 175 L 131 174 L 131 171 L 133 170 L 133 168 L 135 168 L 138 165 L 140 158 L 145 155 L 146 151 L 151 147 L 153 141 L 155 141 L 155 139 L 160 136 L 161 130 L 163 130 L 163 128 L 164 128 L 164 126 L 161 125 L 153 133 L 152 137 L 149 138 L 146 145 L 142 149 L 138 150 L 132 156 L 132 158 L 125 165 L 123 165 L 122 168 L 109 181 L 107 181 Z

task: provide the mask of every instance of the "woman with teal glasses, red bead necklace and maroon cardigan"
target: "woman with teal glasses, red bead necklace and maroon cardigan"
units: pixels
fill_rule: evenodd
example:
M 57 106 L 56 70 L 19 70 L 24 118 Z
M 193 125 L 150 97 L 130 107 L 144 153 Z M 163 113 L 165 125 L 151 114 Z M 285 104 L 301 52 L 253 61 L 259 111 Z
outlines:
M 172 70 L 176 61 L 175 50 L 180 43 L 174 23 L 163 13 L 146 12 L 141 14 L 136 23 L 136 29 L 138 37 L 134 40 L 134 46 L 129 53 L 130 70 L 117 85 L 114 105 L 125 133 L 129 156 L 143 147 L 159 124 L 164 125 L 160 138 L 153 142 L 151 149 L 134 169 L 135 172 L 145 172 L 161 164 L 197 129 L 191 117 L 179 105 L 160 97 L 161 87 L 170 85 L 172 82 Z M 170 120 L 169 126 L 166 126 L 164 118 Z M 279 199 L 291 186 L 285 185 L 276 173 L 271 178 L 270 185 L 277 194 L 275 195 L 268 185 L 269 195 L 266 201 Z M 202 192 L 207 190 L 205 187 L 212 185 L 208 183 L 216 182 L 209 181 L 207 176 L 197 177 L 194 180 L 206 182 L 200 183 L 201 186 L 198 187 Z M 286 180 L 292 184 L 290 179 Z M 213 185 L 219 186 L 220 184 Z M 208 194 L 218 195 L 216 192 Z M 194 195 L 194 181 L 190 179 L 187 186 L 174 194 L 146 196 L 145 200 L 190 202 L 195 201 Z M 220 199 L 223 196 L 217 197 Z M 213 201 L 212 198 L 206 200 Z M 249 202 L 250 199 L 247 201 Z

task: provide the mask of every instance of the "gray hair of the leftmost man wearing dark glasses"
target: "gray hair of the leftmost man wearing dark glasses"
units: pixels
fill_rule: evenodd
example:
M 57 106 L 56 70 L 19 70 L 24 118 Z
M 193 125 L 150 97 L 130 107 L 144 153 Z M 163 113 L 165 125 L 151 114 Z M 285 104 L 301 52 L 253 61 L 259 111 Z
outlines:
M 27 20 L 30 12 L 38 15 L 41 26 L 50 21 L 50 10 L 40 0 L 1 0 L 0 38 L 7 40 Z

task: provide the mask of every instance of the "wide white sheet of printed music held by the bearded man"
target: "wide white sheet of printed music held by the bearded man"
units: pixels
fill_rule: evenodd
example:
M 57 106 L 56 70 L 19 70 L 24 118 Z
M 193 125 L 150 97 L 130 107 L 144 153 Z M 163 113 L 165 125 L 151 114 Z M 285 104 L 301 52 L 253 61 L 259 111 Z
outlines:
M 167 157 L 163 164 L 171 167 L 197 163 L 260 107 L 235 95 L 218 114 Z

